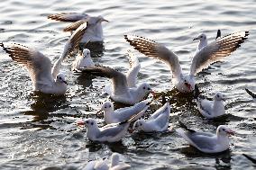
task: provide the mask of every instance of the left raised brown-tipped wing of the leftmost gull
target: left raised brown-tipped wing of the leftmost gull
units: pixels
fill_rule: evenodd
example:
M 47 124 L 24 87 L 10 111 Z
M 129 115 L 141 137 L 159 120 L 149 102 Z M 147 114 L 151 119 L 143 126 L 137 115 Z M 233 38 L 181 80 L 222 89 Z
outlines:
M 5 52 L 18 64 L 25 67 L 31 76 L 33 85 L 52 85 L 50 59 L 41 52 L 20 44 L 0 43 Z

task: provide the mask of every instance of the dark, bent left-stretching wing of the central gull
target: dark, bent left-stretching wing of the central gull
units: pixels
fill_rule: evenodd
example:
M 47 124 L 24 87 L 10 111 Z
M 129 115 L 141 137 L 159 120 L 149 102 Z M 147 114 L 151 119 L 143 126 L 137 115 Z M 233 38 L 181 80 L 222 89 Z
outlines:
M 104 76 L 110 78 L 113 84 L 113 91 L 116 95 L 126 93 L 128 85 L 126 76 L 123 73 L 116 71 L 111 67 L 92 67 L 83 69 L 84 73 L 88 73 L 95 76 Z

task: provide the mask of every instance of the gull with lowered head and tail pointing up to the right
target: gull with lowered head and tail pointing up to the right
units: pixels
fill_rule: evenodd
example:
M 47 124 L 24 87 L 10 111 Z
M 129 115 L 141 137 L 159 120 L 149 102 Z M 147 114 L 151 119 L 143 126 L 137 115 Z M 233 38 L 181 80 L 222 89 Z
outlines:
M 142 130 L 144 132 L 155 132 L 167 130 L 169 126 L 169 102 L 165 103 L 159 110 L 154 112 L 151 117 L 145 121 L 140 119 L 133 124 L 133 130 Z

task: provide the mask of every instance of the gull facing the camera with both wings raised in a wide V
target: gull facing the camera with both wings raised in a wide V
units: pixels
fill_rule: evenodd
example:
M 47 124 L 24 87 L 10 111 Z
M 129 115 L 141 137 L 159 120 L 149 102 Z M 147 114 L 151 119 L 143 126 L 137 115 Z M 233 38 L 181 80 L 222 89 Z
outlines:
M 124 39 L 142 54 L 150 58 L 159 58 L 166 62 L 172 72 L 172 81 L 181 93 L 190 93 L 195 89 L 195 75 L 203 68 L 229 56 L 235 49 L 238 49 L 242 42 L 247 39 L 249 31 L 239 31 L 221 39 L 215 40 L 196 52 L 192 59 L 190 73 L 184 74 L 180 67 L 178 56 L 165 46 L 143 37 L 124 35 Z M 206 43 L 206 42 L 205 42 Z M 199 44 L 204 43 L 199 42 Z

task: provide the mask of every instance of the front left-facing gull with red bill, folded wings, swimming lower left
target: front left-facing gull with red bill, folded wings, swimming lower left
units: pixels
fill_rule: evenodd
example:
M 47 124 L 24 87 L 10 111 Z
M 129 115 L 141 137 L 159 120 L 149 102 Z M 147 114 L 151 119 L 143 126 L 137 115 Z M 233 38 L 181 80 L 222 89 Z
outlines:
M 88 118 L 85 121 L 78 121 L 78 125 L 87 126 L 87 138 L 98 142 L 117 142 L 125 136 L 132 121 L 136 121 L 147 110 L 145 108 L 142 112 L 138 112 L 132 118 L 119 123 L 107 124 L 102 128 L 98 128 L 96 120 Z

